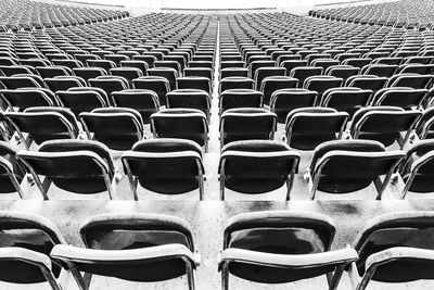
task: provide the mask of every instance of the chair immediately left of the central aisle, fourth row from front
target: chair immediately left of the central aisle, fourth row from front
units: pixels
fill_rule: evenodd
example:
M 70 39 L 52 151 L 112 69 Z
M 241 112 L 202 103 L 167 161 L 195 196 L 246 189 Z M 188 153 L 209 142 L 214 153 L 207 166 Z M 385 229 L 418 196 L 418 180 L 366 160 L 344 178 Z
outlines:
M 196 109 L 205 113 L 209 122 L 210 98 L 209 93 L 201 89 L 177 89 L 166 93 L 166 108 Z

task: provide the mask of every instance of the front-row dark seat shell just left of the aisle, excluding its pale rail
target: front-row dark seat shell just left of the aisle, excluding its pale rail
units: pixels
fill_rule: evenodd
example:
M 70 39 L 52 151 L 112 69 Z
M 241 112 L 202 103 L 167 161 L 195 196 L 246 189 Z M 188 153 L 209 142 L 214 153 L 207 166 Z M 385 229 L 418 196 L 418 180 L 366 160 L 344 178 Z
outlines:
M 152 249 L 153 247 L 178 244 L 194 252 L 193 236 L 190 226 L 182 219 L 166 215 L 151 214 L 107 214 L 88 218 L 80 228 L 80 235 L 87 248 L 93 250 L 128 251 Z M 114 239 L 107 237 L 115 237 Z M 162 248 L 162 251 L 167 248 Z M 63 259 L 62 249 L 55 249 L 54 257 Z M 75 261 L 78 268 L 87 273 L 116 277 L 130 281 L 161 281 L 186 275 L 182 256 L 135 261 L 117 267 L 114 262 L 91 263 Z

